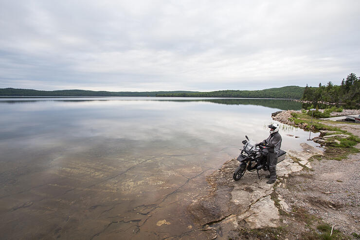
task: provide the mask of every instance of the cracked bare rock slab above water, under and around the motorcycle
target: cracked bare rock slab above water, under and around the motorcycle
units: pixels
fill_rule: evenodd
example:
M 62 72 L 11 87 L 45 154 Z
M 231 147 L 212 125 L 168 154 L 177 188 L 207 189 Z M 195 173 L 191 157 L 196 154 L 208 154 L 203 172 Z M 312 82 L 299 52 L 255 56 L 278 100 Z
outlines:
M 306 143 L 302 143 L 302 147 L 301 152 L 289 151 L 285 160 L 277 165 L 277 181 L 281 181 L 284 188 L 289 174 L 304 167 L 311 168 L 307 159 L 322 153 Z M 270 196 L 274 185 L 266 183 L 268 172 L 260 171 L 259 179 L 256 171 L 247 171 L 240 180 L 234 181 L 232 176 L 238 164 L 233 159 L 209 175 L 210 193 L 188 207 L 195 223 L 207 233 L 208 239 L 228 239 L 232 232 L 242 227 L 256 229 L 280 225 L 278 206 Z M 284 200 L 280 206 L 282 209 L 289 208 Z

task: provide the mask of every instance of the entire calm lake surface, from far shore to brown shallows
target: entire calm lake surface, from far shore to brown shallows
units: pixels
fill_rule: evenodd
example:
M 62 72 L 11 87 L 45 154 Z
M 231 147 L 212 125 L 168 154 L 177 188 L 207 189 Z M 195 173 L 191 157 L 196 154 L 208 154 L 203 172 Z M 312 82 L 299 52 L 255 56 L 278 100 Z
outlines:
M 166 227 L 163 238 L 180 236 L 206 175 L 239 154 L 245 135 L 267 138 L 271 113 L 301 107 L 270 99 L 2 98 L 0 232 L 156 239 Z M 302 129 L 281 124 L 280 134 L 285 151 L 309 143 Z

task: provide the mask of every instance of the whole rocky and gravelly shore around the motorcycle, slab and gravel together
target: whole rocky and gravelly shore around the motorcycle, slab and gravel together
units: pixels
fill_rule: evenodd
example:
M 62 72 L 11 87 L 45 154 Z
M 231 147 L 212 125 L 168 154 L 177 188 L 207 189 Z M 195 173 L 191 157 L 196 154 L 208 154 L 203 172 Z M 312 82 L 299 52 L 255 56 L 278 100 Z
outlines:
M 288 120 L 293 112 L 297 113 L 279 111 L 273 119 L 308 130 L 308 125 Z M 359 125 L 333 124 L 344 131 L 354 128 L 353 133 L 360 137 Z M 359 188 L 352 179 L 360 177 L 356 171 L 360 154 L 348 153 L 338 161 L 328 158 L 326 144 L 324 152 L 306 143 L 300 145 L 303 151 L 288 150 L 286 159 L 278 164 L 274 185 L 265 183 L 264 171 L 259 172 L 260 179 L 256 173 L 246 172 L 234 181 L 236 159 L 207 176 L 212 190 L 188 210 L 208 239 L 321 239 L 330 234 L 329 227 L 334 224 L 336 233 L 330 239 L 359 236 L 360 214 L 354 213 L 360 204 Z M 360 149 L 360 143 L 356 147 Z M 325 230 L 319 230 L 321 227 Z

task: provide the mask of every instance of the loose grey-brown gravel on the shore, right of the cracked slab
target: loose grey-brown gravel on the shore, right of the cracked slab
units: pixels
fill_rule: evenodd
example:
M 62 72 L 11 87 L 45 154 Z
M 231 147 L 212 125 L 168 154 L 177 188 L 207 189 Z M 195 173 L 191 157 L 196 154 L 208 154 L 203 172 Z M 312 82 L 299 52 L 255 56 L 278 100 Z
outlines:
M 283 111 L 273 117 L 292 124 L 292 112 Z M 346 115 L 360 110 L 344 110 Z M 360 137 L 360 124 L 326 123 L 338 126 Z M 360 149 L 360 144 L 356 146 Z M 312 171 L 301 171 L 289 176 L 287 188 L 276 191 L 289 206 L 301 206 L 345 234 L 360 234 L 360 153 L 350 154 L 342 161 L 321 160 L 311 163 Z

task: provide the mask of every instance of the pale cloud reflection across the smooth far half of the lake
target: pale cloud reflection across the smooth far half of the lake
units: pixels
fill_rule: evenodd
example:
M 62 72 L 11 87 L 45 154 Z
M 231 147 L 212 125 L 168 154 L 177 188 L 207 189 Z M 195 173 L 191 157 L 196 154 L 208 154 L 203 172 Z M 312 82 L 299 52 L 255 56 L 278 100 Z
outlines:
M 194 141 L 222 146 L 238 144 L 245 135 L 255 141 L 268 137 L 269 131 L 264 129 L 264 125 L 272 121 L 270 113 L 274 111 L 254 105 L 130 99 L 4 104 L 6 109 L 1 111 L 0 123 L 5 126 L 3 133 L 21 137 L 18 138 L 21 141 L 33 139 L 29 144 L 34 146 L 46 141 L 60 145 L 67 139 L 73 141 L 88 137 L 136 140 L 148 146 L 159 141 L 163 147 L 166 144 L 193 144 Z M 284 148 L 298 145 L 308 137 L 308 133 L 298 129 L 286 133 L 280 130 L 280 133 L 284 136 L 291 131 L 300 138 L 286 137 Z

